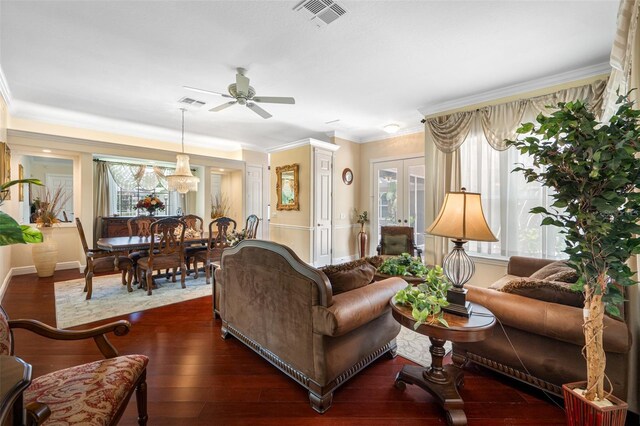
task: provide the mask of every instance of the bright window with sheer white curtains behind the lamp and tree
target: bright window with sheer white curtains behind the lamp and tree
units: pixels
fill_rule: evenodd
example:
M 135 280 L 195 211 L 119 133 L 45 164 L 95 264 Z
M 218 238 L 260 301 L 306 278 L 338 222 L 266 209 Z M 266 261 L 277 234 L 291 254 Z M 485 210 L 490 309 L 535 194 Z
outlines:
M 559 229 L 541 226 L 543 217 L 529 213 L 533 207 L 549 208 L 553 203 L 548 189 L 537 182 L 527 183 L 520 172 L 512 173 L 519 163 L 531 166 L 532 161 L 514 148 L 496 151 L 484 138 L 480 126 L 472 127 L 460 147 L 462 186 L 469 192 L 482 194 L 487 223 L 498 241 L 470 241 L 467 251 L 503 258 L 563 257 L 564 238 Z

